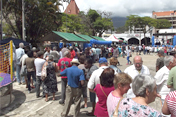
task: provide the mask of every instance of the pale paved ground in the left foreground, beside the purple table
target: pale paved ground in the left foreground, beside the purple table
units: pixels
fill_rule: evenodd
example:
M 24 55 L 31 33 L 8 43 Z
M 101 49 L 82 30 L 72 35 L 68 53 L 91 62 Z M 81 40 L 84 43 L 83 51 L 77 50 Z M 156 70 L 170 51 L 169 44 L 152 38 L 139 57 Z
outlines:
M 13 117 L 60 117 L 62 112 L 63 105 L 59 104 L 61 96 L 61 82 L 60 77 L 58 80 L 58 92 L 56 93 L 56 100 L 52 101 L 52 95 L 49 96 L 49 101 L 45 102 L 45 98 L 36 98 L 35 89 L 32 90 L 32 93 L 28 93 L 26 85 L 18 85 L 17 82 L 13 83 L 13 103 L 0 111 L 2 116 L 13 116 Z M 1 102 L 4 100 L 9 100 L 9 96 L 1 99 Z M 89 102 L 89 98 L 88 98 Z M 83 101 L 81 105 L 83 105 Z M 88 108 L 81 108 L 80 117 L 86 117 L 86 113 L 91 111 L 91 104 L 88 103 Z M 70 109 L 68 115 L 73 115 L 73 105 Z

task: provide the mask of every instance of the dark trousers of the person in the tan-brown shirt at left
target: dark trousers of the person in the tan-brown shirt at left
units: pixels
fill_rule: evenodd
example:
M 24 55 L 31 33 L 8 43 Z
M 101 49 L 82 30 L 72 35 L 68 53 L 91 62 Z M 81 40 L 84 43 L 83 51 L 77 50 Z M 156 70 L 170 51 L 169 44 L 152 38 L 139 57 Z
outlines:
M 27 72 L 27 79 L 28 79 L 28 83 L 27 83 L 27 85 L 28 85 L 28 91 L 31 91 L 31 85 L 30 85 L 30 83 L 31 83 L 31 76 L 32 76 L 32 79 L 33 79 L 34 84 L 36 85 L 35 71 Z M 35 86 L 35 85 L 34 85 L 34 86 Z M 36 87 L 36 86 L 35 86 L 35 87 Z

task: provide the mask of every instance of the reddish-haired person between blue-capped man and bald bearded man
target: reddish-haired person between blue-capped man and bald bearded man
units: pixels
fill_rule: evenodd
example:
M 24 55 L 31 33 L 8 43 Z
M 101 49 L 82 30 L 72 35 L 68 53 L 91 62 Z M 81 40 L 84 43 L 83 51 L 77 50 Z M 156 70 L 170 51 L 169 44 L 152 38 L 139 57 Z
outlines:
M 118 63 L 117 58 L 111 57 L 109 62 L 110 62 L 110 66 L 109 67 L 112 68 L 115 71 L 115 74 L 121 72 L 121 70 L 117 67 L 117 63 Z

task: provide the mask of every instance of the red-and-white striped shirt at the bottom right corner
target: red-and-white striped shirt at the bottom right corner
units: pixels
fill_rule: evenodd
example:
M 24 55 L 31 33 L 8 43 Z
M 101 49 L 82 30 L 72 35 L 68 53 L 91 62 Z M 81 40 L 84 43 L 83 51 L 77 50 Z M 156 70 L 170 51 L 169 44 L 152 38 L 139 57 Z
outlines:
M 166 102 L 169 111 L 171 112 L 171 117 L 176 117 L 176 91 L 170 92 L 166 96 Z

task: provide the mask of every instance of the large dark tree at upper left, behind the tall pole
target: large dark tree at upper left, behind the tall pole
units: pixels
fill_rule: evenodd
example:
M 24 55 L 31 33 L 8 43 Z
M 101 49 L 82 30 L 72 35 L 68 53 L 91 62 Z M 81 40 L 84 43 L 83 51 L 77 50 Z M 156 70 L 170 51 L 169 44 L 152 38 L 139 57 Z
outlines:
M 60 0 L 25 0 L 26 40 L 36 45 L 43 35 L 61 26 Z M 3 1 L 3 17 L 17 38 L 22 37 L 21 0 Z M 12 17 L 13 20 L 10 20 Z

